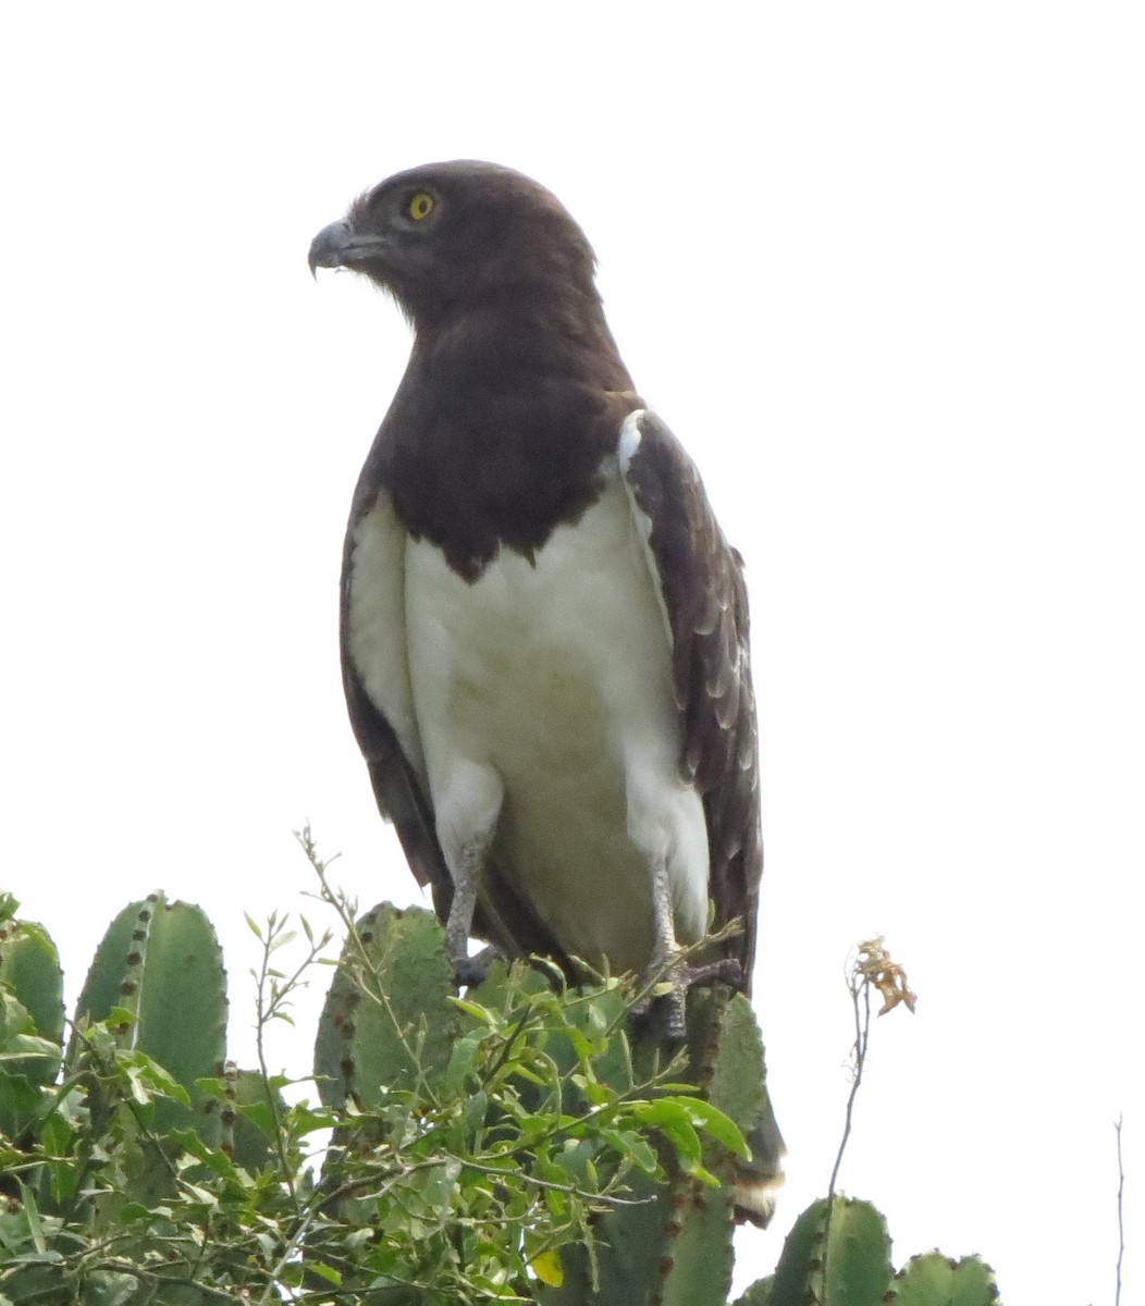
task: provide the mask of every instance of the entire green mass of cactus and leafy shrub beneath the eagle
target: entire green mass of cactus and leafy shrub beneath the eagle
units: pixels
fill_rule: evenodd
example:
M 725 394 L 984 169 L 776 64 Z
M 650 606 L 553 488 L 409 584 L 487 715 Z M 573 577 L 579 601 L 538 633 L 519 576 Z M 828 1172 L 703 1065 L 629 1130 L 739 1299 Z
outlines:
M 65 1049 L 55 948 L 0 896 L 0 1306 L 726 1302 L 730 1177 L 769 1109 L 747 1003 L 693 994 L 671 1055 L 607 976 L 496 965 L 457 998 L 430 913 L 355 919 L 316 867 L 346 944 L 307 1080 L 262 1041 L 333 964 L 306 919 L 289 969 L 287 921 L 249 921 L 260 1064 L 240 1071 L 197 908 L 115 918 Z M 883 1217 L 832 1195 L 739 1306 L 995 1298 L 977 1258 L 893 1273 Z

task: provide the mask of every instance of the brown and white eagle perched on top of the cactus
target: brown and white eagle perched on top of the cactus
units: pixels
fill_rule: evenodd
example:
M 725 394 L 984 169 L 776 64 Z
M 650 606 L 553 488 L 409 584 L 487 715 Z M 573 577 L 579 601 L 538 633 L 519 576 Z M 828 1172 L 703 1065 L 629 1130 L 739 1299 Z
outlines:
M 324 227 L 410 321 L 343 551 L 346 701 L 383 815 L 469 940 L 749 990 L 762 846 L 743 562 L 637 393 L 547 189 L 454 161 Z M 715 934 L 712 955 L 689 946 Z M 782 1141 L 756 1144 L 762 1221 Z

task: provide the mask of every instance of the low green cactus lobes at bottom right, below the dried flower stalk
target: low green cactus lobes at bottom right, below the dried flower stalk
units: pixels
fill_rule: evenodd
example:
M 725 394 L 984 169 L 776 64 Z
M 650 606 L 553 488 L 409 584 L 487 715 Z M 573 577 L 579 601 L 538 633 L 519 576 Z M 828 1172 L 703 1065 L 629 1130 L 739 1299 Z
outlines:
M 994 1273 L 977 1256 L 927 1252 L 894 1275 L 883 1216 L 867 1202 L 834 1196 L 799 1216 L 776 1273 L 736 1306 L 990 1306 L 996 1298 Z

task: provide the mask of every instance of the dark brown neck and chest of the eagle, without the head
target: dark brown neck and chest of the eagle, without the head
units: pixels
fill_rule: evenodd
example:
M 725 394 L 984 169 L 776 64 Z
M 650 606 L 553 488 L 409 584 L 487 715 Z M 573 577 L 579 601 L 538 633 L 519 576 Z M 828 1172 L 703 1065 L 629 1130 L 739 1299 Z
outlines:
M 420 333 L 367 464 L 406 529 L 473 581 L 500 549 L 531 558 L 601 492 L 640 406 L 615 350 L 503 315 Z

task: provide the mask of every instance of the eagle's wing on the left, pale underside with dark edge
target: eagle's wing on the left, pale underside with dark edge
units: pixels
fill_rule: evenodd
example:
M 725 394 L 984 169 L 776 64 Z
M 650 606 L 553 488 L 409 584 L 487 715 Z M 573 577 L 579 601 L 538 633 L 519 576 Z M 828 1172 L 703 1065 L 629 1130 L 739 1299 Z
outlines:
M 363 471 L 342 554 L 342 683 L 358 746 L 381 815 L 393 821 L 418 883 L 443 923 L 453 902 L 433 818 L 406 643 L 405 552 L 409 535 L 371 464 Z M 529 905 L 486 867 L 473 934 L 504 953 L 560 949 Z

